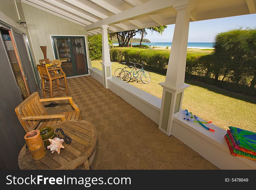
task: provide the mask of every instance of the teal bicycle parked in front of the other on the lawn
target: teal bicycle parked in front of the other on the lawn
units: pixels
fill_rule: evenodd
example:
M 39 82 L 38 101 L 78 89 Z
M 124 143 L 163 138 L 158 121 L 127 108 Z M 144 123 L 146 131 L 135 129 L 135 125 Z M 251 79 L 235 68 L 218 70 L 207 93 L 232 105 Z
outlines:
M 134 64 L 134 63 L 133 63 Z M 136 65 L 140 65 L 141 69 L 136 68 Z M 120 73 L 120 79 L 124 82 L 129 82 L 131 79 L 133 80 L 141 80 L 144 84 L 147 84 L 151 80 L 150 73 L 145 71 L 143 68 L 145 67 L 144 64 L 134 64 L 134 66 L 131 66 L 132 70 L 127 71 L 123 70 Z

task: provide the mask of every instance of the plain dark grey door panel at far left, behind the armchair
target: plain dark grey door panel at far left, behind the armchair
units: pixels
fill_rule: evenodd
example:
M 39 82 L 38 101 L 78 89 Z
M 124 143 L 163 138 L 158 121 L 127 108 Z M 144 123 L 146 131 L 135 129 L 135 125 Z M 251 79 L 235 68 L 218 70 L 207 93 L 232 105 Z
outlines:
M 25 144 L 25 131 L 19 123 L 15 107 L 23 101 L 23 97 L 0 34 L 0 166 L 1 169 L 18 169 L 18 155 Z

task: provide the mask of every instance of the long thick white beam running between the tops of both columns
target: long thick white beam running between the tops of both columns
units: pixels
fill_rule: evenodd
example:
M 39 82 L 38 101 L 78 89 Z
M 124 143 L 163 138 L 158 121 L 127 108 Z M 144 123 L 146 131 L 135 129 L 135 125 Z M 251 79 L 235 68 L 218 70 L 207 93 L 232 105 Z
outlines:
M 128 10 L 122 11 L 118 14 L 107 17 L 106 19 L 102 19 L 98 22 L 92 23 L 88 26 L 85 26 L 85 30 L 91 30 L 94 28 L 99 28 L 102 25 L 109 25 L 112 23 L 117 23 L 123 20 L 129 20 L 135 18 L 140 15 L 146 15 L 151 12 L 155 12 L 160 9 L 166 9 L 168 7 L 173 6 L 173 3 L 178 2 L 178 0 L 152 0 L 136 7 L 130 8 Z

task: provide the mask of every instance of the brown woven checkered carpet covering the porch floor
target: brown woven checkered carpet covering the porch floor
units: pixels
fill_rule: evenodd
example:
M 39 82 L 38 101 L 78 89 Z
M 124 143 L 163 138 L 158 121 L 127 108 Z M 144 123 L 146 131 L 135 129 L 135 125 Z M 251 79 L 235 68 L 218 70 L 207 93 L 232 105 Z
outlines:
M 218 169 L 91 76 L 70 78 L 67 84 L 82 120 L 97 131 L 94 169 Z M 51 113 L 70 109 L 61 102 L 47 108 Z

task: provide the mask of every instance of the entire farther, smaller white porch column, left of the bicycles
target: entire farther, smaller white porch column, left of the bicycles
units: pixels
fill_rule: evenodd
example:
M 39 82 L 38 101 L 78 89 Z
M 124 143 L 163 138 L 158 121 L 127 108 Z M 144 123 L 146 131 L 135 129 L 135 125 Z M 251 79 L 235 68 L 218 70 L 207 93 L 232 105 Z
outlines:
M 107 79 L 112 77 L 112 62 L 110 61 L 109 53 L 109 39 L 108 39 L 108 25 L 102 25 L 102 73 L 103 73 L 103 82 L 104 87 L 108 88 Z

